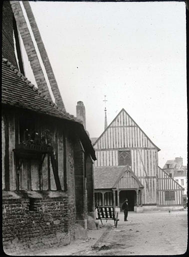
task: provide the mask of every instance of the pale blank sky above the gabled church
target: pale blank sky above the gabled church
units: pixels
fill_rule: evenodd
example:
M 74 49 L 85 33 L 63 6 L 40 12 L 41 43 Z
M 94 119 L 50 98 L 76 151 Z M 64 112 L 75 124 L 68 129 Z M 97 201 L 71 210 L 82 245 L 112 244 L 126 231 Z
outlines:
M 83 101 L 99 137 L 124 108 L 161 149 L 187 163 L 185 4 L 30 2 L 70 114 Z M 23 52 L 25 72 L 34 82 Z M 78 67 L 78 68 L 77 68 Z

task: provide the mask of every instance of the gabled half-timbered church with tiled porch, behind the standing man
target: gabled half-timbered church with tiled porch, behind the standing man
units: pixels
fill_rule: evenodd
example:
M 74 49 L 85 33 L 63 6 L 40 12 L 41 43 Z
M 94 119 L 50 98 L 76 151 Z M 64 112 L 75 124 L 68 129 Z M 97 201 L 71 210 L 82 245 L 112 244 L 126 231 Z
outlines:
M 181 206 L 182 187 L 158 167 L 160 150 L 122 109 L 93 147 L 95 201 L 129 210 Z

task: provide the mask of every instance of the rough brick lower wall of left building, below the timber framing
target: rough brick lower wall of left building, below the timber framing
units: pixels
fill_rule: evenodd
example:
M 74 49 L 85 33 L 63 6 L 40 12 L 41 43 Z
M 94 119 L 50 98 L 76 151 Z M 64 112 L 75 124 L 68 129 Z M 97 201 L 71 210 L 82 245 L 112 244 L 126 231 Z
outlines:
M 2 200 L 2 240 L 7 254 L 68 244 L 68 199 Z

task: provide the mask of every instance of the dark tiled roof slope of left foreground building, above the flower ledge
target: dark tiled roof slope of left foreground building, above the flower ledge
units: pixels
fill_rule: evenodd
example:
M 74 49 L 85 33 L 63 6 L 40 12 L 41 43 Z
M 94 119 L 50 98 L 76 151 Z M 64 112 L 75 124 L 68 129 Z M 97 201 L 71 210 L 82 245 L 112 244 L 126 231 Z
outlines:
M 61 112 L 55 103 L 47 100 L 15 66 L 2 58 L 2 97 L 1 102 L 19 108 L 37 111 L 72 121 L 79 119 L 67 112 Z

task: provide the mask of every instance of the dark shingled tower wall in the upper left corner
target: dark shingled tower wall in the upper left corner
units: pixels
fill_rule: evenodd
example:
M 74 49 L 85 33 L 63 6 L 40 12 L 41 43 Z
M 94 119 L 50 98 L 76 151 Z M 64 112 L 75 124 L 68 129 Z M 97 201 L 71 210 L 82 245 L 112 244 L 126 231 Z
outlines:
M 16 68 L 13 41 L 13 13 L 8 1 L 3 2 L 2 9 L 2 57 L 8 59 Z

